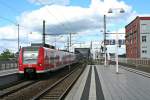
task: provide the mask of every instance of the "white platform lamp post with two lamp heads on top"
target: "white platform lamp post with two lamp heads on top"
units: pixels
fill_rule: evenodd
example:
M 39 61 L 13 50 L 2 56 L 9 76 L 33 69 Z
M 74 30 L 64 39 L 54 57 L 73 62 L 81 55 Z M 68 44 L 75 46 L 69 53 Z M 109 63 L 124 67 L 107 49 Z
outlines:
M 123 8 L 116 8 L 116 9 L 109 9 L 108 13 L 113 13 L 113 10 L 119 10 L 120 13 L 124 13 L 124 9 Z M 118 31 L 116 32 L 116 73 L 119 73 L 119 69 L 118 69 Z

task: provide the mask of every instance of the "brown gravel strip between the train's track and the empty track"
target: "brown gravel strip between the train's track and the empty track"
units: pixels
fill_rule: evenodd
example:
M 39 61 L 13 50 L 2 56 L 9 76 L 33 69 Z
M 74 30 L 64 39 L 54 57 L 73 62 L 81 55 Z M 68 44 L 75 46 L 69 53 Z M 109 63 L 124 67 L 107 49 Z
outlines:
M 73 70 L 73 68 L 71 70 Z M 50 76 L 49 79 L 41 80 L 18 92 L 10 94 L 7 97 L 4 97 L 3 100 L 29 100 L 35 95 L 37 95 L 40 91 L 51 86 L 54 82 L 56 82 L 58 79 L 60 79 L 62 76 L 68 73 L 69 73 L 68 69 L 62 69 L 61 71 L 58 71 L 57 73 L 53 73 L 54 75 Z

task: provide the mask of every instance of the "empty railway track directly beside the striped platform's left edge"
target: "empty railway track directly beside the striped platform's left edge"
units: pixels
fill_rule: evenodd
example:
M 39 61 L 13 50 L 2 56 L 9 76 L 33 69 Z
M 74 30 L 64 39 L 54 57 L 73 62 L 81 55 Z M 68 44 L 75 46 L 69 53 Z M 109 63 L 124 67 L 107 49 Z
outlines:
M 67 74 L 52 86 L 46 88 L 38 95 L 36 95 L 32 100 L 62 100 L 65 98 L 66 94 L 69 92 L 73 84 L 79 78 L 83 71 L 83 67 L 79 67 L 71 73 Z

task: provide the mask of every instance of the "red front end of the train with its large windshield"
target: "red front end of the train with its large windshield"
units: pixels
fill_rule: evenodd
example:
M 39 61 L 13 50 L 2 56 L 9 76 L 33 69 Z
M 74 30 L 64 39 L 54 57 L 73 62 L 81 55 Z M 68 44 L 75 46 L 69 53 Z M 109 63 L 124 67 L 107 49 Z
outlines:
M 43 58 L 44 49 L 42 47 L 23 47 L 18 59 L 19 73 L 26 76 L 43 72 Z

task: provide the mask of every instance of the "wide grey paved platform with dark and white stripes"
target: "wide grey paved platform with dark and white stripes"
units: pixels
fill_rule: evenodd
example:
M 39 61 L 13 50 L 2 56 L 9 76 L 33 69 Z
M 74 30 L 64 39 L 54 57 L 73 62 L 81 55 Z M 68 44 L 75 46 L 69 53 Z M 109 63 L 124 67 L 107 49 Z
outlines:
M 150 100 L 150 78 L 109 65 L 88 65 L 65 100 Z

